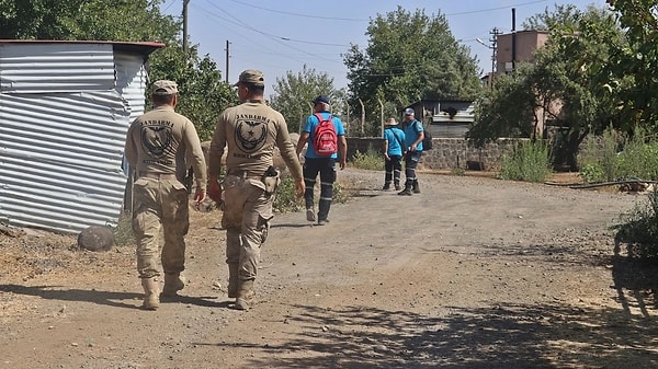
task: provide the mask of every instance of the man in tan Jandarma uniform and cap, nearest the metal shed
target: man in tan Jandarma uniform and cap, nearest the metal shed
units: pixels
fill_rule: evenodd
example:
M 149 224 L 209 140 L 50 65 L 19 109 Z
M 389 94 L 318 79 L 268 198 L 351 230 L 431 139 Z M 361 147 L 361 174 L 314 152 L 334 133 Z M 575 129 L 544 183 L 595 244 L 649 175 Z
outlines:
M 154 109 L 128 128 L 125 157 L 135 171 L 133 233 L 137 242 L 137 272 L 144 287 L 146 310 L 160 305 L 158 268 L 159 234 L 164 243 L 160 262 L 164 272 L 162 297 L 175 297 L 185 287 L 180 277 L 185 266 L 185 235 L 190 228 L 189 193 L 183 184 L 191 162 L 196 181 L 194 200 L 206 197 L 206 163 L 194 124 L 174 112 L 178 85 L 160 80 L 152 84 Z

